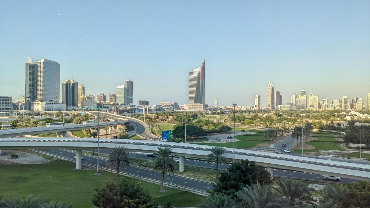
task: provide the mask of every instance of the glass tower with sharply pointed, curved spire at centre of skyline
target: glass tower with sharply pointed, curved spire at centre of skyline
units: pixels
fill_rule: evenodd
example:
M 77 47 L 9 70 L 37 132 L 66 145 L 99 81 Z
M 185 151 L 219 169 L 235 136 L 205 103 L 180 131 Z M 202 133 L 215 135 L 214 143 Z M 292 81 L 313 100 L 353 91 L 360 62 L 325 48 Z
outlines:
M 204 104 L 205 59 L 201 67 L 189 71 L 189 103 Z

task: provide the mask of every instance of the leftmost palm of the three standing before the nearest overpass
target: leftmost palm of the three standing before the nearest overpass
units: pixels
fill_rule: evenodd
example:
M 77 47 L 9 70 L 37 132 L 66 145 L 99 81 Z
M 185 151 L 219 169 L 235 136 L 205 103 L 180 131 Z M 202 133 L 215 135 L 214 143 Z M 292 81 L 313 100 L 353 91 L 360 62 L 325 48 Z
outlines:
M 111 151 L 108 160 L 106 162 L 107 166 L 117 170 L 117 180 L 120 173 L 120 168 L 130 164 L 128 158 L 128 152 L 125 147 L 115 147 Z

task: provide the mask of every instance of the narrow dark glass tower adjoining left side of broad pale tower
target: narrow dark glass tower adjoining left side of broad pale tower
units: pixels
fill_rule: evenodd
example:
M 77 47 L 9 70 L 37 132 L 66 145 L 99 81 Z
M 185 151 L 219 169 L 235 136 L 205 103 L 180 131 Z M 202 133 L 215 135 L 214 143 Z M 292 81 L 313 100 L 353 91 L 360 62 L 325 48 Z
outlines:
M 37 61 L 28 57 L 26 63 L 25 110 L 30 110 L 31 102 L 37 99 Z

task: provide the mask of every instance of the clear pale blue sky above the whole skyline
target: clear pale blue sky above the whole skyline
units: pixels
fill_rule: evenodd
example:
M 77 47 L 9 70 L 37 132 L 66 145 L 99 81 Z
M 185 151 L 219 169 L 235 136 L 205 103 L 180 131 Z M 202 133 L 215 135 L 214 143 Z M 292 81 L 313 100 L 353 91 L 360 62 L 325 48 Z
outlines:
M 58 15 L 60 14 L 60 15 Z M 88 36 L 87 36 L 88 35 Z M 370 1 L 0 1 L 0 95 L 24 94 L 27 57 L 60 63 L 61 80 L 134 103 L 188 102 L 188 71 L 206 59 L 205 97 L 266 105 L 305 89 L 329 100 L 370 92 Z

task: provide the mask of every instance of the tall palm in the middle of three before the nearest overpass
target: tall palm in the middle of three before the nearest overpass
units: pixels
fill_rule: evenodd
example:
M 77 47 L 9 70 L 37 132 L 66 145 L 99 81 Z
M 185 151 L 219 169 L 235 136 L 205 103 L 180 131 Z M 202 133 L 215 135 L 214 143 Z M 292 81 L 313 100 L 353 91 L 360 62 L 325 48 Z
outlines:
M 170 157 L 172 154 L 172 149 L 169 147 L 161 148 L 158 147 L 158 156 L 154 158 L 152 168 L 153 172 L 156 170 L 161 171 L 162 181 L 161 181 L 161 191 L 163 190 L 163 181 L 166 172 L 174 173 L 175 171 L 175 161 Z

